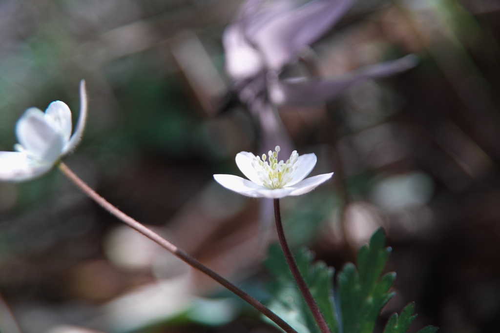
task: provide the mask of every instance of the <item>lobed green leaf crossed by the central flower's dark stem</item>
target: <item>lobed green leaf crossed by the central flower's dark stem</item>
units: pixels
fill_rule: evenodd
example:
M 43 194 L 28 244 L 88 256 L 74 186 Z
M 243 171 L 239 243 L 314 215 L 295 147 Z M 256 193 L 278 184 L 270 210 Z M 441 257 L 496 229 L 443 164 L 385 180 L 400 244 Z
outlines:
M 338 333 L 338 321 L 333 305 L 333 269 L 328 269 L 322 262 L 312 264 L 313 255 L 306 249 L 299 250 L 294 258 L 330 332 Z M 274 280 L 267 284 L 268 291 L 274 297 L 268 304 L 268 308 L 299 333 L 319 333 L 314 318 L 277 244 L 269 247 L 264 265 L 274 277 Z

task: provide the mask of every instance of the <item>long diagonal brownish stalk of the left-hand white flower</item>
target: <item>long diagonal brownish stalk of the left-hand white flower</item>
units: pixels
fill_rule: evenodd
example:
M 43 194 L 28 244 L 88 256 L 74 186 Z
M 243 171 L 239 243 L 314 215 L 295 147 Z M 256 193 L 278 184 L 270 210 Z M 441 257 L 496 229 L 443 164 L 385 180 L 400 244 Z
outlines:
M 283 331 L 287 333 L 297 333 L 295 330 L 293 330 L 286 322 L 284 322 L 281 318 L 276 316 L 272 311 L 267 309 L 264 305 L 262 305 L 260 302 L 255 300 L 253 297 L 250 295 L 246 294 L 243 292 L 241 289 L 238 287 L 234 286 L 232 283 L 215 273 L 214 271 L 210 270 L 208 267 L 205 265 L 201 264 L 198 262 L 196 259 L 192 258 L 176 246 L 174 246 L 172 243 L 168 242 L 158 234 L 154 233 L 152 230 L 146 228 L 139 222 L 135 221 L 113 205 L 111 205 L 109 202 L 106 201 L 106 199 L 102 198 L 100 195 L 98 195 L 94 190 L 92 190 L 85 182 L 83 182 L 78 176 L 76 176 L 64 163 L 60 162 L 59 163 L 59 169 L 66 175 L 77 187 L 80 188 L 87 196 L 89 196 L 92 200 L 94 200 L 97 204 L 99 204 L 102 208 L 107 210 L 109 213 L 117 217 L 119 220 L 121 220 L 123 223 L 128 225 L 130 228 L 138 231 L 142 235 L 146 236 L 156 244 L 160 245 L 164 249 L 168 250 L 170 253 L 184 261 L 186 264 L 190 265 L 191 267 L 197 269 L 198 271 L 201 271 L 202 273 L 206 274 L 213 280 L 217 281 L 219 284 L 221 284 L 223 287 L 227 288 L 231 292 L 233 292 L 235 295 L 239 296 L 241 299 L 243 299 L 245 302 L 247 302 L 249 305 L 251 305 L 253 308 L 255 308 L 257 311 L 262 313 L 264 316 L 269 318 L 271 321 L 273 321 L 277 326 L 279 326 Z

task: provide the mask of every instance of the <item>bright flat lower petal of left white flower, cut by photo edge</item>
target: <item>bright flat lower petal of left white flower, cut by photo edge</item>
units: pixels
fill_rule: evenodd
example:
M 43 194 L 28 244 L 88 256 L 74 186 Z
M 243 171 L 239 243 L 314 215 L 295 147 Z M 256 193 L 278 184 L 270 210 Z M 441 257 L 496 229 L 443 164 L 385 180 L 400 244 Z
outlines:
M 22 181 L 50 170 L 51 163 L 37 163 L 24 153 L 0 151 L 0 181 Z

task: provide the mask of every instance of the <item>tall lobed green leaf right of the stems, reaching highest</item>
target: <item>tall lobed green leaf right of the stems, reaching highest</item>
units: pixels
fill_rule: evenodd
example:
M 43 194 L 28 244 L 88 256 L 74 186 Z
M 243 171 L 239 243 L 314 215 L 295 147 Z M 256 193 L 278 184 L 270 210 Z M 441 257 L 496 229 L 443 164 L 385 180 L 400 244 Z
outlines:
M 379 278 L 390 254 L 390 248 L 384 243 L 383 231 L 378 229 L 369 245 L 359 250 L 358 269 L 348 263 L 338 274 L 343 332 L 372 333 L 380 310 L 394 295 L 388 290 L 394 283 L 395 273 Z

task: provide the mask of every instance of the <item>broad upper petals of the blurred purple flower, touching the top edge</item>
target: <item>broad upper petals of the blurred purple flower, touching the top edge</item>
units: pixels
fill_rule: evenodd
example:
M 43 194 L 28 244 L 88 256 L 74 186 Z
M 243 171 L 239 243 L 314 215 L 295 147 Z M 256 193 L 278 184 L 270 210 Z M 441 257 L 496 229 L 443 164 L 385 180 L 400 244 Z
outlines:
M 316 0 L 294 7 L 290 0 L 246 1 L 224 31 L 226 70 L 234 79 L 260 70 L 279 71 L 301 48 L 315 42 L 354 0 Z

